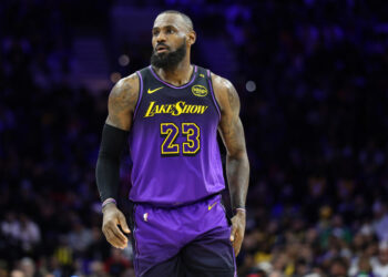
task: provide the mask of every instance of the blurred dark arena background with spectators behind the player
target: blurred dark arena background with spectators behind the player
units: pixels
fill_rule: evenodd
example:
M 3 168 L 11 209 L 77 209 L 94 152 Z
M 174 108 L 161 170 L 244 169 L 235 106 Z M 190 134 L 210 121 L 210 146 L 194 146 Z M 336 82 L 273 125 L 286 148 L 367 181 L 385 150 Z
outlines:
M 239 276 L 388 276 L 388 2 L 3 0 L 0 276 L 134 276 L 101 233 L 110 89 L 186 12 L 231 79 L 252 166 Z M 125 206 L 131 161 L 122 167 Z

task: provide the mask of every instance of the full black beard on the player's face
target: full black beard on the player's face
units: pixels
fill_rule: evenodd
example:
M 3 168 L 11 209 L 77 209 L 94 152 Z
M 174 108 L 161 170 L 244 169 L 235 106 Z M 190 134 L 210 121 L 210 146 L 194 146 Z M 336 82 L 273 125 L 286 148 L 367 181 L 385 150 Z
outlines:
M 151 64 L 159 69 L 172 70 L 177 66 L 177 64 L 185 58 L 185 55 L 186 55 L 186 39 L 184 39 L 182 45 L 178 47 L 174 52 L 159 54 L 154 50 L 151 55 Z

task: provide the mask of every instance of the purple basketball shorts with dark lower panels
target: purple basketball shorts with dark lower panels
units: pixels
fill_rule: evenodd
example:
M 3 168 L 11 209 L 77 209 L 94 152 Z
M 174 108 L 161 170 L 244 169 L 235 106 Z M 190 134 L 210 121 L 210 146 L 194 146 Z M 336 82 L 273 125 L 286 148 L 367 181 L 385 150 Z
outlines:
M 178 207 L 132 203 L 130 214 L 136 276 L 235 276 L 221 195 Z

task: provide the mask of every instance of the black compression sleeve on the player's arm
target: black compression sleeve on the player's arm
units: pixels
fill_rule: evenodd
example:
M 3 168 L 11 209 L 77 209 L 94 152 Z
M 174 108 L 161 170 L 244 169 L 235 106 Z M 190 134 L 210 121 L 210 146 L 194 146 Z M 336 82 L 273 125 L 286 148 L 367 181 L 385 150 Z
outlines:
M 121 154 L 130 132 L 105 124 L 95 168 L 95 179 L 101 201 L 118 198 Z

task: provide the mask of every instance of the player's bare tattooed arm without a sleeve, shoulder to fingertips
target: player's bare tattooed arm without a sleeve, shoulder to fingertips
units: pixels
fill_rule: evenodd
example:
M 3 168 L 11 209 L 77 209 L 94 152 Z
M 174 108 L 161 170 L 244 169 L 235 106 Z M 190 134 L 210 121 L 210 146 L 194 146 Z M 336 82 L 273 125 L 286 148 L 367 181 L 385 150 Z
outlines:
M 239 119 L 239 99 L 233 84 L 221 76 L 212 75 L 215 96 L 221 107 L 218 131 L 226 147 L 226 176 L 232 208 L 231 240 L 236 256 L 245 232 L 245 201 L 249 183 L 249 162 L 246 153 L 244 127 Z

